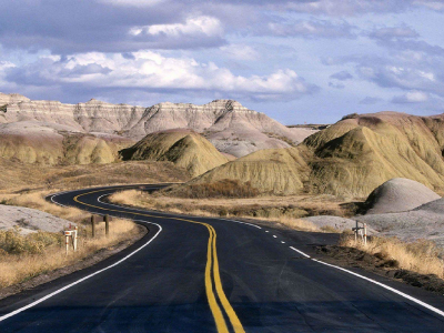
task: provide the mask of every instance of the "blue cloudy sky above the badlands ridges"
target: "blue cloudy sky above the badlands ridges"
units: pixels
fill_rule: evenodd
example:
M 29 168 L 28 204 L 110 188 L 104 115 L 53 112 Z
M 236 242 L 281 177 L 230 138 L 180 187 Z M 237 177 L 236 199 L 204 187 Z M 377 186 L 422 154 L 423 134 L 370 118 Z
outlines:
M 0 0 L 0 91 L 234 99 L 284 124 L 444 112 L 444 0 Z

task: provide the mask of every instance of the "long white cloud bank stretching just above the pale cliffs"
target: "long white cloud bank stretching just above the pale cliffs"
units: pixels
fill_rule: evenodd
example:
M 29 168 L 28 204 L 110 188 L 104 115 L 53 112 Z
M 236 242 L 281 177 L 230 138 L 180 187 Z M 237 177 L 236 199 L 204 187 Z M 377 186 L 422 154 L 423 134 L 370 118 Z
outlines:
M 102 89 L 194 90 L 242 94 L 252 99 L 295 99 L 313 93 L 317 87 L 296 72 L 281 69 L 269 75 L 236 75 L 213 62 L 192 58 L 168 58 L 152 51 L 120 53 L 82 53 L 67 60 L 41 57 L 36 63 L 16 69 L 14 75 L 27 84 L 80 84 Z

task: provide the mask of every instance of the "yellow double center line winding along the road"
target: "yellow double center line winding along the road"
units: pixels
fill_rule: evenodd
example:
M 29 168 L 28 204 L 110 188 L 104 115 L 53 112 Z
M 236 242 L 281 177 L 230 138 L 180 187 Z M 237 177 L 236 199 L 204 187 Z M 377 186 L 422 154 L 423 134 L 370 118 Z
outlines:
M 229 333 L 229 329 L 225 322 L 225 319 L 223 316 L 221 306 L 219 305 L 215 293 L 219 297 L 219 301 L 226 314 L 226 316 L 230 320 L 231 326 L 233 327 L 235 333 L 245 333 L 241 321 L 239 320 L 236 313 L 234 312 L 233 306 L 231 306 L 229 300 L 226 299 L 225 293 L 223 292 L 222 287 L 222 281 L 220 276 L 220 271 L 219 271 L 219 260 L 218 260 L 218 251 L 216 251 L 216 233 L 215 230 L 212 225 L 204 223 L 204 222 L 198 222 L 193 220 L 186 220 L 186 219 L 181 219 L 181 218 L 167 218 L 167 216 L 154 216 L 150 214 L 144 214 L 144 213 L 137 213 L 137 212 L 128 212 L 128 211 L 121 211 L 121 210 L 115 210 L 115 209 L 104 209 L 98 205 L 93 205 L 83 201 L 80 201 L 79 198 L 92 194 L 92 193 L 98 193 L 98 192 L 104 192 L 113 189 L 105 189 L 105 190 L 98 190 L 98 191 L 92 191 L 83 194 L 79 194 L 74 196 L 74 201 L 78 203 L 81 203 L 87 206 L 95 208 L 102 211 L 109 211 L 109 212 L 118 212 L 118 213 L 129 213 L 133 215 L 140 215 L 140 216 L 147 216 L 147 218 L 155 218 L 155 219 L 169 219 L 169 220 L 176 220 L 176 221 L 184 221 L 184 222 L 190 222 L 190 223 L 195 223 L 195 224 L 201 224 L 206 226 L 210 236 L 209 236 L 209 242 L 208 242 L 208 252 L 206 252 L 206 266 L 205 266 L 205 292 L 206 292 L 206 299 L 210 304 L 210 310 L 213 314 L 214 322 L 218 329 L 219 333 Z M 213 273 L 213 274 L 211 274 Z M 211 276 L 212 275 L 212 276 Z M 214 284 L 213 284 L 214 282 Z

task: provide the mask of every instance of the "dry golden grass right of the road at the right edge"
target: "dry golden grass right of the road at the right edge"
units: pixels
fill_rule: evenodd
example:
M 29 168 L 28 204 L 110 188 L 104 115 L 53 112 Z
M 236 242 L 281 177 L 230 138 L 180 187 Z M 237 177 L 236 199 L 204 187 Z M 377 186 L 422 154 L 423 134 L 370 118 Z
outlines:
M 354 236 L 344 235 L 341 238 L 340 245 L 356 248 L 380 259 L 389 260 L 393 266 L 400 269 L 444 278 L 444 263 L 440 259 L 440 250 L 431 241 L 418 240 L 406 243 L 397 238 L 374 236 L 365 245 L 361 241 L 355 242 Z

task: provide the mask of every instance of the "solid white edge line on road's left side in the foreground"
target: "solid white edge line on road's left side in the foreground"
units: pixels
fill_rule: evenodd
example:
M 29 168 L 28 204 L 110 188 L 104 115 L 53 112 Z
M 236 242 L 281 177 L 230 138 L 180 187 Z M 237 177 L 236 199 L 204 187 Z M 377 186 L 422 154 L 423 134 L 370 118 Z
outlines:
M 56 195 L 53 195 L 53 196 L 56 196 Z M 52 200 L 53 196 L 51 198 L 51 201 L 54 202 L 54 203 L 57 203 L 56 201 Z M 4 314 L 4 315 L 0 316 L 0 322 L 2 322 L 2 321 L 4 321 L 6 319 L 9 319 L 9 317 L 11 317 L 11 316 L 13 316 L 13 315 L 16 315 L 16 314 L 19 314 L 20 312 L 23 312 L 23 311 L 26 311 L 26 310 L 28 310 L 28 309 L 30 309 L 30 307 L 33 307 L 33 306 L 36 306 L 37 304 L 39 304 L 39 303 L 41 303 L 41 302 L 43 302 L 43 301 L 46 301 L 46 300 L 48 300 L 48 299 L 50 299 L 50 297 L 52 297 L 52 296 L 54 296 L 54 295 L 57 295 L 57 294 L 60 294 L 61 292 L 63 292 L 63 291 L 70 289 L 71 286 L 74 286 L 75 284 L 79 284 L 79 283 L 81 283 L 81 282 L 83 282 L 83 281 L 85 281 L 85 280 L 88 280 L 88 279 L 90 279 L 90 278 L 92 278 L 92 276 L 94 276 L 94 275 L 97 275 L 97 274 L 100 274 L 100 273 L 102 273 L 102 272 L 104 272 L 104 271 L 107 271 L 107 270 L 109 270 L 109 269 L 112 269 L 112 268 L 117 266 L 118 264 L 124 262 L 127 259 L 129 259 L 130 256 L 134 255 L 134 254 L 138 253 L 140 250 L 142 250 L 143 248 L 145 248 L 147 245 L 149 245 L 149 244 L 161 233 L 161 231 L 162 231 L 162 226 L 161 226 L 160 224 L 158 224 L 158 223 L 153 223 L 153 222 L 149 222 L 149 221 L 142 221 L 142 220 L 132 220 L 132 221 L 138 221 L 138 222 L 143 222 L 143 223 L 155 224 L 155 225 L 159 226 L 159 231 L 154 234 L 154 236 L 153 236 L 151 240 L 149 240 L 149 241 L 148 241 L 147 243 L 144 243 L 142 246 L 140 246 L 139 249 L 134 250 L 133 252 L 131 252 L 131 253 L 128 254 L 127 256 L 122 258 L 122 259 L 119 260 L 118 262 L 113 263 L 112 265 L 109 265 L 109 266 L 107 266 L 107 268 L 104 268 L 104 269 L 101 269 L 100 271 L 97 271 L 97 272 L 94 272 L 94 273 L 92 273 L 92 274 L 90 274 L 90 275 L 87 275 L 87 276 L 84 276 L 84 278 L 82 278 L 82 279 L 80 279 L 80 280 L 78 280 L 78 281 L 75 281 L 75 282 L 72 282 L 72 283 L 70 283 L 70 284 L 68 284 L 68 285 L 65 285 L 65 286 L 63 286 L 63 287 L 61 287 L 61 289 L 59 289 L 59 290 L 57 290 L 57 291 L 54 291 L 54 292 L 52 292 L 52 293 L 50 293 L 50 294 L 46 295 L 44 297 L 41 297 L 40 300 L 37 300 L 37 301 L 34 301 L 34 302 L 32 302 L 32 303 L 30 303 L 30 304 L 28 304 L 28 305 L 26 305 L 26 306 L 23 306 L 23 307 L 20 307 L 20 309 L 16 310 L 16 311 L 12 311 L 12 312 L 10 312 L 10 313 L 8 313 L 8 314 Z

